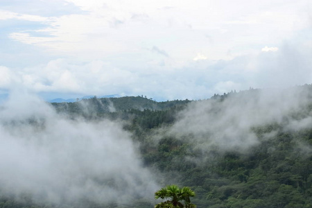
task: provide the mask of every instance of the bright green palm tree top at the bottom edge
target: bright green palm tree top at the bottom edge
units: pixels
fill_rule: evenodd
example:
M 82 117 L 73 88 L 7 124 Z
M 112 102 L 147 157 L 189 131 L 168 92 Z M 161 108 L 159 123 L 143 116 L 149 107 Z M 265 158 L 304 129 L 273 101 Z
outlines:
M 190 197 L 195 196 L 195 192 L 189 187 L 180 189 L 177 185 L 170 185 L 159 189 L 155 193 L 155 199 L 168 199 L 155 205 L 155 208 L 195 208 L 196 205 L 191 203 Z M 181 201 L 184 201 L 184 205 Z

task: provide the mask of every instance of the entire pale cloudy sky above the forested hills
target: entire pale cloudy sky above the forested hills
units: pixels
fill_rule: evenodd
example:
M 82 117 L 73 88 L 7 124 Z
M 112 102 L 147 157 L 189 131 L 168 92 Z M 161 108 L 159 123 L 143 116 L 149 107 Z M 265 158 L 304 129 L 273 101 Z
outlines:
M 210 98 L 312 83 L 309 0 L 1 0 L 0 94 Z

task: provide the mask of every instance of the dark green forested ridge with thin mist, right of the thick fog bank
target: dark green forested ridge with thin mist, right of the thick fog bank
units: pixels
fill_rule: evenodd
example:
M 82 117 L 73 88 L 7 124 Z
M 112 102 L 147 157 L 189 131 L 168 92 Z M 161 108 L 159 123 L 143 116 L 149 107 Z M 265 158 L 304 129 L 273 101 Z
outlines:
M 277 92 L 250 89 L 203 101 L 156 102 L 137 96 L 51 105 L 73 120 L 121 121 L 138 144 L 142 166 L 162 186 L 191 187 L 198 208 L 312 207 L 311 85 Z M 137 198 L 127 205 L 83 205 L 155 204 Z M 0 207 L 32 205 L 5 197 L 0 202 Z

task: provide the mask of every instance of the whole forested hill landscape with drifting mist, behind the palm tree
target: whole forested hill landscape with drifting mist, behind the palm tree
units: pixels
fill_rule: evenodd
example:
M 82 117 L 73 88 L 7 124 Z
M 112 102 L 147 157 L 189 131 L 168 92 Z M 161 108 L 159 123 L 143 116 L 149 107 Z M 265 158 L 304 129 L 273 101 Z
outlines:
M 25 103 L 1 108 L 0 207 L 153 207 L 168 184 L 199 208 L 312 207 L 312 85 Z

